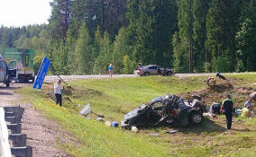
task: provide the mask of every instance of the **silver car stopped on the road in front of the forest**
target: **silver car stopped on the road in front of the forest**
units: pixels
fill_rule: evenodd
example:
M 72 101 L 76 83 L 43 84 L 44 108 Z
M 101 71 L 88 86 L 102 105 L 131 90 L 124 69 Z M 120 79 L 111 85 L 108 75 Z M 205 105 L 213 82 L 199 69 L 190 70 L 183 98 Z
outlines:
M 145 65 L 138 67 L 134 74 L 137 75 L 171 75 L 174 74 L 174 72 L 169 68 L 161 67 L 160 65 Z

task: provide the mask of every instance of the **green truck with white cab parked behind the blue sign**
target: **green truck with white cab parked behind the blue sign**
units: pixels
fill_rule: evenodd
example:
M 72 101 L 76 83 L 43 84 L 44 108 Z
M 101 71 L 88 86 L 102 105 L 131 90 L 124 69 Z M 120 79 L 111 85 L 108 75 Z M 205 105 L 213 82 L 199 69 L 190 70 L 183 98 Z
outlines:
M 5 58 L 11 81 L 19 83 L 34 82 L 34 51 L 26 48 L 2 48 L 0 54 Z

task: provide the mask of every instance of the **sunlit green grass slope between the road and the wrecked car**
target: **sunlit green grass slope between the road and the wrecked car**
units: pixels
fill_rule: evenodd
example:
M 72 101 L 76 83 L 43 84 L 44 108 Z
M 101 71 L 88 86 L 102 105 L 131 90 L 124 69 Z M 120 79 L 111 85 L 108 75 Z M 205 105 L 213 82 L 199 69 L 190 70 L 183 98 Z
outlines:
M 178 94 L 206 87 L 199 77 L 179 80 L 161 76 L 82 80 L 70 85 L 75 89 L 73 100 L 79 98 L 77 103 L 90 102 L 97 113 L 116 120 L 122 120 L 124 113 L 168 92 Z

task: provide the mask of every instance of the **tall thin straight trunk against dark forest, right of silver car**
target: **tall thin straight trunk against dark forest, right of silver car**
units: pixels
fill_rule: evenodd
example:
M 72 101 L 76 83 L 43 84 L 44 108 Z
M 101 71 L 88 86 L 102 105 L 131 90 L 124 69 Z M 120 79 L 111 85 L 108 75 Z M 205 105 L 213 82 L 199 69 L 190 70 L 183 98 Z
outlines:
M 189 0 L 189 73 L 193 73 L 192 0 Z

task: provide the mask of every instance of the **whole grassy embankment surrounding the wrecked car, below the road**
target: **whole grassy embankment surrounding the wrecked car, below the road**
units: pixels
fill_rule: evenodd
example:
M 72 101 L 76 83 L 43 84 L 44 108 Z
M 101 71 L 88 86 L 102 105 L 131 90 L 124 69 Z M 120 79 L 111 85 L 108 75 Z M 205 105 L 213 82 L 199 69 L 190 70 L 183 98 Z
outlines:
M 256 82 L 256 74 L 230 75 L 237 84 Z M 76 104 L 91 103 L 92 110 L 108 119 L 121 121 L 123 115 L 141 103 L 164 95 L 197 91 L 206 88 L 205 77 L 178 79 L 173 77 L 138 77 L 105 80 L 83 80 L 71 83 L 64 108 L 55 106 L 48 97 L 31 88 L 18 90 L 23 101 L 32 102 L 48 118 L 57 121 L 74 135 L 79 144 L 59 143 L 59 147 L 74 156 L 253 156 L 256 154 L 256 120 L 234 119 L 231 133 L 224 134 L 224 117 L 206 119 L 201 126 L 179 127 L 174 135 L 165 134 L 170 127 L 156 127 L 138 134 L 121 128 L 106 127 L 96 120 L 78 116 Z M 43 86 L 49 91 L 51 84 Z M 30 95 L 27 93 L 31 92 Z M 69 99 L 68 99 L 69 97 Z M 70 101 L 68 101 L 70 100 Z M 160 133 L 151 136 L 150 133 Z

